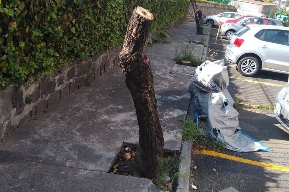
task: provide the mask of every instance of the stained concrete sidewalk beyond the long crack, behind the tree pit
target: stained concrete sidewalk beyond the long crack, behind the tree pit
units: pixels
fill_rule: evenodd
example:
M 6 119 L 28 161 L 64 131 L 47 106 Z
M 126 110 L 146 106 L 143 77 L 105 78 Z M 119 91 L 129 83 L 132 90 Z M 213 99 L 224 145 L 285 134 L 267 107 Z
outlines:
M 180 120 L 185 119 L 191 96 L 188 85 L 195 67 L 172 61 L 174 47 L 194 35 L 195 24 L 187 29 L 186 25 L 172 32 L 176 35 L 171 36 L 171 44 L 147 49 L 166 151 L 180 149 Z M 203 47 L 197 50 L 201 53 Z M 123 141 L 138 143 L 138 124 L 125 76 L 115 68 L 31 119 L 10 138 L 0 156 L 13 153 L 14 158 L 108 172 Z

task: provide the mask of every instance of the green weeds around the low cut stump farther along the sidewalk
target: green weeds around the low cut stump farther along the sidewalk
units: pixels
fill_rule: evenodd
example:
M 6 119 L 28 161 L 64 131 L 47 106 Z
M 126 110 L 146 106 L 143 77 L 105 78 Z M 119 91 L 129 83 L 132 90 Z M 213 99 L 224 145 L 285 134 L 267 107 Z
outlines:
M 181 52 L 176 49 L 175 57 L 173 60 L 176 61 L 177 64 L 179 64 L 181 61 L 190 61 L 192 67 L 197 67 L 203 63 L 201 59 L 194 55 L 193 49 L 189 49 L 188 46 L 182 46 Z

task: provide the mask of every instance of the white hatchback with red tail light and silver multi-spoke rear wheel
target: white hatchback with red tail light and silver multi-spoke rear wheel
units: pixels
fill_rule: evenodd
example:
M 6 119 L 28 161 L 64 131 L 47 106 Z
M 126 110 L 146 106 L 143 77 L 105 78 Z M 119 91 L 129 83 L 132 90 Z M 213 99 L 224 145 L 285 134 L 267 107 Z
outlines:
M 289 28 L 247 25 L 232 36 L 225 58 L 237 64 L 243 76 L 261 69 L 289 74 Z

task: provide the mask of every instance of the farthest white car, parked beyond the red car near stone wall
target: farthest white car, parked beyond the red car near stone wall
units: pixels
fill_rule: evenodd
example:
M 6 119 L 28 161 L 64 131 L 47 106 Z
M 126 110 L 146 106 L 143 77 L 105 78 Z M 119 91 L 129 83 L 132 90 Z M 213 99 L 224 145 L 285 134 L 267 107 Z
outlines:
M 236 19 L 243 16 L 241 13 L 224 12 L 218 15 L 208 15 L 203 17 L 203 22 L 210 26 L 219 26 L 220 22 L 225 22 L 228 19 Z

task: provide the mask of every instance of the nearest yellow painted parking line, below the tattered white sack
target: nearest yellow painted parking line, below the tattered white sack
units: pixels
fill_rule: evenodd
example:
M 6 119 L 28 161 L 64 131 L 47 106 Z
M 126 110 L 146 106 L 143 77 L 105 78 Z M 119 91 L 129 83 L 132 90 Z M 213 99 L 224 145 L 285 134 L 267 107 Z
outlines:
M 269 169 L 273 169 L 273 170 L 289 172 L 289 167 L 284 167 L 284 166 L 279 166 L 279 165 L 274 165 L 274 164 L 269 164 L 269 163 L 264 163 L 264 162 L 259 162 L 259 161 L 253 161 L 250 159 L 235 157 L 232 155 L 227 155 L 224 153 L 219 153 L 219 152 L 214 152 L 214 151 L 209 151 L 209 150 L 194 150 L 193 153 L 210 155 L 210 156 L 214 156 L 214 157 L 228 159 L 230 161 L 236 161 L 236 162 L 240 162 L 240 163 L 246 163 L 249 165 L 255 165 L 255 166 L 269 168 Z

